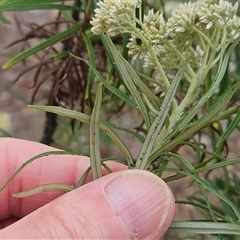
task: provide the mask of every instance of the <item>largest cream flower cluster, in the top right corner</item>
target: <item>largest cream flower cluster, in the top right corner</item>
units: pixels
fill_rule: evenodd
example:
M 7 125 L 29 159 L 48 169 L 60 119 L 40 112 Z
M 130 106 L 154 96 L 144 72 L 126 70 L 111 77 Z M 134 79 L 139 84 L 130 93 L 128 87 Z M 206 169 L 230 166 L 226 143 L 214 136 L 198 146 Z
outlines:
M 165 25 L 161 25 L 163 41 L 157 54 L 163 67 L 179 68 L 186 59 L 192 69 L 206 64 L 209 51 L 226 48 L 240 36 L 237 9 L 238 3 L 232 5 L 224 0 L 179 4 Z M 152 62 L 152 56 L 146 54 L 145 66 L 152 66 Z

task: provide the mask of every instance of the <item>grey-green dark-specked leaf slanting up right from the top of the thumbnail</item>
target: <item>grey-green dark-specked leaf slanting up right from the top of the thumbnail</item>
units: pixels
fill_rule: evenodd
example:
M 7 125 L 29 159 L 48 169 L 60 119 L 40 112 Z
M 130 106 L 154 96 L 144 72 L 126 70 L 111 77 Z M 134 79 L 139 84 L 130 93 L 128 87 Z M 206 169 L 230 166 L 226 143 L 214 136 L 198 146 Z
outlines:
M 141 148 L 140 154 L 138 156 L 136 167 L 139 169 L 146 169 L 148 168 L 148 165 L 146 164 L 148 161 L 148 158 L 152 152 L 152 148 L 155 144 L 155 141 L 159 135 L 159 132 L 161 131 L 163 124 L 165 122 L 165 119 L 168 115 L 169 109 L 171 107 L 172 101 L 175 97 L 175 93 L 177 91 L 177 87 L 182 79 L 182 75 L 184 74 L 184 71 L 186 69 L 187 62 L 185 62 L 181 68 L 179 69 L 178 73 L 174 77 L 166 96 L 163 100 L 162 106 L 157 113 L 151 128 L 149 129 L 149 132 L 146 136 L 145 142 Z

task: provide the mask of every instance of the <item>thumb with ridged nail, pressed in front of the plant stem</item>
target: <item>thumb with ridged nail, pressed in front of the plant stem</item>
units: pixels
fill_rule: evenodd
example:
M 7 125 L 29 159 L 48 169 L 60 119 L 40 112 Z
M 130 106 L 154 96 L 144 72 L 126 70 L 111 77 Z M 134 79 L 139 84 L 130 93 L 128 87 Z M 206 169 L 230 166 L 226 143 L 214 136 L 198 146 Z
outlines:
M 175 213 L 157 176 L 126 170 L 55 199 L 0 231 L 0 239 L 159 239 Z

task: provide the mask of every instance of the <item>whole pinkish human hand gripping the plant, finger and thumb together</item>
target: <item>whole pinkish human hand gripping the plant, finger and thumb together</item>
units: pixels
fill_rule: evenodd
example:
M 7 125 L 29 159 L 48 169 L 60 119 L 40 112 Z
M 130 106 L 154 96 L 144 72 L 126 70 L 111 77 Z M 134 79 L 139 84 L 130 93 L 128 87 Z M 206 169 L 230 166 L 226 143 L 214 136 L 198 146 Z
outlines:
M 26 160 L 52 150 L 0 138 L 0 187 Z M 173 219 L 174 198 L 168 186 L 147 171 L 108 162 L 114 173 L 64 195 L 52 191 L 12 197 L 50 182 L 76 185 L 89 164 L 83 156 L 51 155 L 24 168 L 0 193 L 0 239 L 159 239 Z

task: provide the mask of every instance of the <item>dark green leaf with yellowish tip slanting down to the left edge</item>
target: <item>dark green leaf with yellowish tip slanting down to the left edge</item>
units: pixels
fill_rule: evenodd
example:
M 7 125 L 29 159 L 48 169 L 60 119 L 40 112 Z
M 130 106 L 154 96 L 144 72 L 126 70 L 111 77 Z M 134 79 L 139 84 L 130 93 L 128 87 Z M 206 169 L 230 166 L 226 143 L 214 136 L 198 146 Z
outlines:
M 27 50 L 25 50 L 24 52 L 19 53 L 18 55 L 16 55 L 14 58 L 12 58 L 10 61 L 8 61 L 4 66 L 3 69 L 12 67 L 13 65 L 25 60 L 26 58 L 30 57 L 31 55 L 39 52 L 40 50 L 43 50 L 57 42 L 60 42 L 61 40 L 63 40 L 66 37 L 69 37 L 71 34 L 75 33 L 76 31 L 78 31 L 83 24 L 77 24 L 74 25 L 70 28 L 68 28 L 67 30 L 65 30 L 64 32 L 61 32 L 59 34 L 56 34 L 50 38 L 48 38 L 47 40 L 37 44 L 36 46 L 29 48 Z

